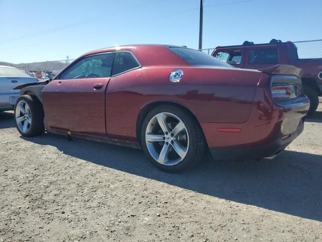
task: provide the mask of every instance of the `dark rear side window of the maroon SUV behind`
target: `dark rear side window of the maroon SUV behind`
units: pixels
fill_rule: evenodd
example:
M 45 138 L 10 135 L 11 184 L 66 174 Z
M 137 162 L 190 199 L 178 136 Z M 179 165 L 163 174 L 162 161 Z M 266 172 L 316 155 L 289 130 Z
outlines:
M 277 48 L 251 49 L 250 64 L 277 64 Z

